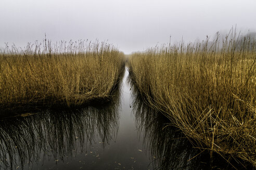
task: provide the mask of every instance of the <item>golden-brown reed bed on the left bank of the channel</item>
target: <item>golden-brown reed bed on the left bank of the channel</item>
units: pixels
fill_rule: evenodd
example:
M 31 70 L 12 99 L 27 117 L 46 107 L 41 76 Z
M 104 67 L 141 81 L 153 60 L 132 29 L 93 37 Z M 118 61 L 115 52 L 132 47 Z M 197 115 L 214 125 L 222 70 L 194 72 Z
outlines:
M 108 43 L 61 41 L 6 46 L 0 53 L 0 106 L 77 106 L 109 100 L 124 54 Z

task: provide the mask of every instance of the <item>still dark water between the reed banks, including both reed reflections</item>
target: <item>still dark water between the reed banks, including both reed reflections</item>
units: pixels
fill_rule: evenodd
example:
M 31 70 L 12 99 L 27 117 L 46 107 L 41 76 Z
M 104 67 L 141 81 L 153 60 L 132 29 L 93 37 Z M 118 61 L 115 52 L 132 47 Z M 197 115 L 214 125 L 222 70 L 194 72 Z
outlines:
M 110 104 L 0 121 L 0 169 L 218 169 L 128 76 Z

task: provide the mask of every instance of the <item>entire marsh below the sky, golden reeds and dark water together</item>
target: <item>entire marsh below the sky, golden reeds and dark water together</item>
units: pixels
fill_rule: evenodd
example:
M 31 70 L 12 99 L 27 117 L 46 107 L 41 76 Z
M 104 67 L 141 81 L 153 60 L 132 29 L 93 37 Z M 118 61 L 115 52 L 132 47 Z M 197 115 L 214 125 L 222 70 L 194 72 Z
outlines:
M 256 41 L 0 54 L 0 169 L 254 169 Z

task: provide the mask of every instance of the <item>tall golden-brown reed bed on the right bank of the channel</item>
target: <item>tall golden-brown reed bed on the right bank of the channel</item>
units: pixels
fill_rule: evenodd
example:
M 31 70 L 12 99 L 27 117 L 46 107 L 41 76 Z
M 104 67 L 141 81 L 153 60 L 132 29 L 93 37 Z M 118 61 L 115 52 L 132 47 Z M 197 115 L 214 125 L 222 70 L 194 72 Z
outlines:
M 235 32 L 219 37 L 134 53 L 129 71 L 145 102 L 196 148 L 255 166 L 256 42 Z

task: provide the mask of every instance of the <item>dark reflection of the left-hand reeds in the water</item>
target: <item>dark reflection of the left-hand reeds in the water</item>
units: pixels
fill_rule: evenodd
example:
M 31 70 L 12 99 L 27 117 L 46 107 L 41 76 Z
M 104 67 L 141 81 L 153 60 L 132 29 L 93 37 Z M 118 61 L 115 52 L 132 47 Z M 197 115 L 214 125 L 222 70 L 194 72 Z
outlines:
M 46 110 L 40 114 L 0 121 L 0 169 L 31 167 L 39 160 L 61 161 L 86 152 L 95 141 L 105 147 L 117 136 L 120 91 L 101 107 Z

